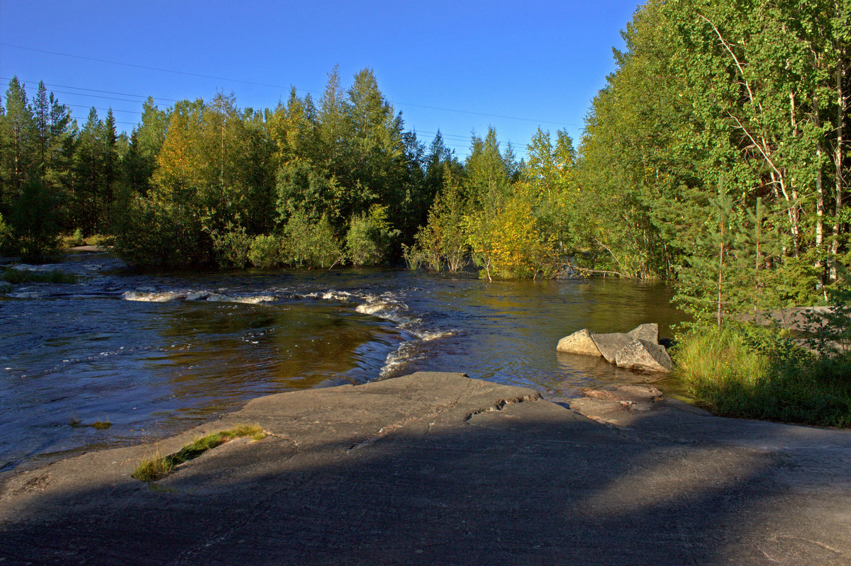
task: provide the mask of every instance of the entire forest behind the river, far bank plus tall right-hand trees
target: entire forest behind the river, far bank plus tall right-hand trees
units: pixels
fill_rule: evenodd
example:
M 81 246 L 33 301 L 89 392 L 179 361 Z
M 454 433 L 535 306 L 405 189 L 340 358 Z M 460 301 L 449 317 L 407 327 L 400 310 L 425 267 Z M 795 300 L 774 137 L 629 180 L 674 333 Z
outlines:
M 493 128 L 463 161 L 439 133 L 426 146 L 368 69 L 266 110 L 148 99 L 129 136 L 111 112 L 81 129 L 43 84 L 28 101 L 13 79 L 6 245 L 81 229 L 139 266 L 612 273 L 676 280 L 717 320 L 806 303 L 842 286 L 851 249 L 849 13 L 851 0 L 649 0 L 579 148 L 539 129 L 520 161 Z

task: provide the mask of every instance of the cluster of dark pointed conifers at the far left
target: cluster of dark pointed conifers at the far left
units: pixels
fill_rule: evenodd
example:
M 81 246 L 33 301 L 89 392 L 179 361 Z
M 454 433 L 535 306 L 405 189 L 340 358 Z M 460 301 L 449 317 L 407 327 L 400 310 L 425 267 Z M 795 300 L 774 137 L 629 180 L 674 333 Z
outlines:
M 40 82 L 30 100 L 17 78 L 0 106 L 0 250 L 38 261 L 68 226 L 106 232 L 127 140 L 92 109 L 80 128 Z

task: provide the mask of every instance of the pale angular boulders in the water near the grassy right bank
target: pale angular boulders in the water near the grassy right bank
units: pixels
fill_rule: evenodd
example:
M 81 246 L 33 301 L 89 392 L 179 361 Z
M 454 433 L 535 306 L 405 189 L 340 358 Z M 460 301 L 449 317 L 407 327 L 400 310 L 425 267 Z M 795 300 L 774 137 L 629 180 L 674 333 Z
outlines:
M 597 334 L 587 328 L 558 341 L 556 349 L 566 354 L 603 356 L 610 364 L 628 370 L 671 371 L 673 363 L 659 343 L 659 325 L 646 324 L 632 331 Z

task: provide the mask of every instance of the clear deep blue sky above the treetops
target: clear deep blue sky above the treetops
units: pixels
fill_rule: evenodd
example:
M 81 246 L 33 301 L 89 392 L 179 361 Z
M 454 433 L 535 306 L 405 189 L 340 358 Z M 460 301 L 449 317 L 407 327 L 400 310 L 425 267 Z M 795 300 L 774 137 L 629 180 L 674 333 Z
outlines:
M 318 98 L 334 65 L 344 88 L 370 67 L 426 143 L 440 128 L 463 158 L 471 132 L 492 125 L 519 157 L 539 126 L 579 144 L 637 6 L 2 0 L 0 81 L 17 75 L 32 94 L 43 80 L 81 126 L 91 106 L 101 117 L 111 107 L 129 132 L 149 95 L 166 107 L 220 89 L 241 107 L 271 108 L 291 86 Z

